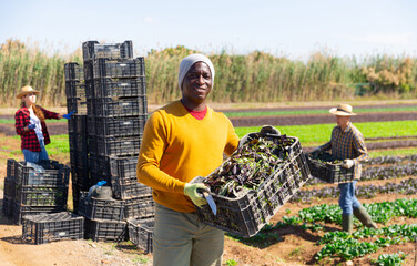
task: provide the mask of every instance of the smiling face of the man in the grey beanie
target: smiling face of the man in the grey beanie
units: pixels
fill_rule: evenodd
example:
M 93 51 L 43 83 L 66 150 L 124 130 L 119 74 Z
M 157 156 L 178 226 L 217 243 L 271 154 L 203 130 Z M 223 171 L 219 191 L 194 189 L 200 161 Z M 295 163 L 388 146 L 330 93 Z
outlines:
M 207 64 L 196 62 L 186 73 L 183 85 L 182 96 L 189 102 L 201 104 L 205 102 L 212 90 L 212 72 Z

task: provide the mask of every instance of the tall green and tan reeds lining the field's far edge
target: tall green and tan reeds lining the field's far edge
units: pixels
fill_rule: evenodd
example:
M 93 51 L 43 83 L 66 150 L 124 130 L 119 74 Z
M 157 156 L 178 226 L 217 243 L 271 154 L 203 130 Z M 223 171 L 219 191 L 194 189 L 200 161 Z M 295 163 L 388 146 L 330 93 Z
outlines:
M 64 63 L 82 63 L 81 48 L 51 54 L 19 40 L 0 44 L 1 106 L 16 104 L 21 86 L 42 91 L 45 105 L 64 105 Z M 81 44 L 80 44 L 81 47 Z M 193 52 L 184 47 L 145 54 L 148 102 L 166 103 L 181 96 L 177 68 Z M 385 95 L 417 96 L 417 59 L 386 54 L 337 57 L 326 51 L 308 60 L 289 60 L 261 51 L 207 54 L 215 68 L 213 102 L 275 102 L 354 99 Z

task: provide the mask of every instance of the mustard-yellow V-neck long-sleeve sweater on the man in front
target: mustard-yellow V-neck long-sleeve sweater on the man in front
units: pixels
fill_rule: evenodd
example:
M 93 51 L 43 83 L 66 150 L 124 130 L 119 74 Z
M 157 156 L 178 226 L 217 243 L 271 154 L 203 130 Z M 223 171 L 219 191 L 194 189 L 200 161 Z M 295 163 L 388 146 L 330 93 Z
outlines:
M 155 202 L 177 212 L 195 212 L 185 183 L 206 176 L 238 145 L 232 122 L 207 109 L 203 120 L 180 101 L 155 111 L 146 122 L 138 158 L 138 181 L 153 188 Z

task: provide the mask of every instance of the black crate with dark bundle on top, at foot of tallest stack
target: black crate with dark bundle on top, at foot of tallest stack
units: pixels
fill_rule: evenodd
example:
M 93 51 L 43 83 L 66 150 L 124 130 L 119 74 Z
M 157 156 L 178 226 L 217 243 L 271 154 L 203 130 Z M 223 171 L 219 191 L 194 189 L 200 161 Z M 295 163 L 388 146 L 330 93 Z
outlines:
M 101 200 L 87 197 L 87 193 L 81 194 L 78 213 L 89 219 L 118 221 L 124 219 L 124 202 L 115 200 Z

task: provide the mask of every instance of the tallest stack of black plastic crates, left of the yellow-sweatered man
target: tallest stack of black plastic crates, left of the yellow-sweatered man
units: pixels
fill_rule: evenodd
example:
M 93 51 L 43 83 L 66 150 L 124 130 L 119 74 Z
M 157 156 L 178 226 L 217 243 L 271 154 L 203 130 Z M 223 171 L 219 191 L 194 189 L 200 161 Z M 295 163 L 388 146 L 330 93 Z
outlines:
M 113 198 L 123 203 L 124 221 L 153 217 L 152 191 L 138 183 L 135 171 L 148 116 L 144 59 L 132 58 L 131 41 L 84 42 L 83 57 L 92 184 L 111 185 Z M 87 235 L 114 227 L 109 222 L 87 219 Z

